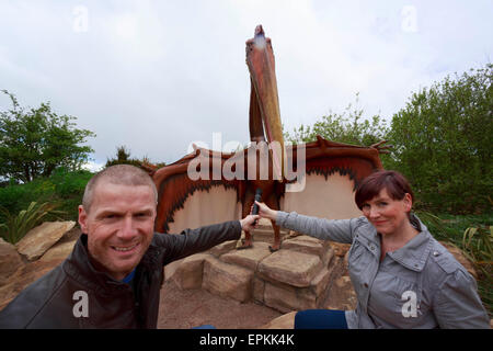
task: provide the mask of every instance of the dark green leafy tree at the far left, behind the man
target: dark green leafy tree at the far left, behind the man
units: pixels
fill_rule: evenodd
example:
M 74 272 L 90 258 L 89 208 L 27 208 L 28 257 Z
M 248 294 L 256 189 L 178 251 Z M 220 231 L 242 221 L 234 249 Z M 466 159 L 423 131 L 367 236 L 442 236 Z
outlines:
M 57 167 L 79 170 L 93 149 L 81 145 L 95 134 L 76 128 L 76 117 L 57 115 L 49 102 L 26 111 L 7 90 L 12 109 L 0 112 L 0 177 L 31 182 Z

